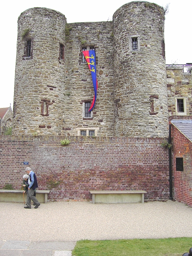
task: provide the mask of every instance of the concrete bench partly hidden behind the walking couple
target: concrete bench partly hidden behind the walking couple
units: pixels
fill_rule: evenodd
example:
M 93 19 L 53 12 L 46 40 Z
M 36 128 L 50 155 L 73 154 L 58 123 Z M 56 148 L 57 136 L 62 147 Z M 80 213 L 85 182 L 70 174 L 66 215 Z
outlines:
M 47 194 L 50 190 L 36 190 L 36 198 L 40 203 L 47 203 Z M 26 202 L 26 193 L 24 193 Z M 0 189 L 0 202 L 23 202 L 23 190 Z

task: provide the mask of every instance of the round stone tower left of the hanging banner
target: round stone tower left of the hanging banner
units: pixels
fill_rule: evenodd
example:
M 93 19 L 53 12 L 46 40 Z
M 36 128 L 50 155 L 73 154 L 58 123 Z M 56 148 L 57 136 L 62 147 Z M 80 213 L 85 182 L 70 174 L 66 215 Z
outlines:
M 18 18 L 12 134 L 59 134 L 64 115 L 66 18 L 32 8 Z

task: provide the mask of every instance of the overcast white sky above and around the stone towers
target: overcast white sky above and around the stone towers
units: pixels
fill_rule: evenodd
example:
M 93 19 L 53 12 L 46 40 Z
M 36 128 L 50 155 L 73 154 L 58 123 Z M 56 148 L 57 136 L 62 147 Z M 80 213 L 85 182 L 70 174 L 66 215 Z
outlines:
M 114 12 L 129 0 L 1 0 L 0 1 L 0 108 L 13 108 L 15 59 L 17 46 L 17 19 L 21 12 L 33 7 L 46 7 L 61 12 L 68 23 L 112 20 Z M 149 1 L 165 7 L 166 64 L 192 63 L 192 1 Z M 83 4 L 83 8 L 82 8 Z M 83 15 L 83 9 L 92 6 L 92 19 Z

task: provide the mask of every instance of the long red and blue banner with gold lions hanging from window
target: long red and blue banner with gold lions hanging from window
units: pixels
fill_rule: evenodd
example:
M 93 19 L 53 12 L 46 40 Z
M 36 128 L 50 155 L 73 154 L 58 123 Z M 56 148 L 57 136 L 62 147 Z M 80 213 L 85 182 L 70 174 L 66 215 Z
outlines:
M 82 51 L 84 58 L 87 61 L 89 70 L 91 72 L 92 76 L 92 81 L 93 81 L 93 89 L 94 89 L 94 97 L 93 97 L 93 102 L 90 105 L 89 112 L 93 110 L 96 102 L 96 97 L 97 97 L 97 78 L 96 78 L 96 57 L 95 57 L 95 51 Z

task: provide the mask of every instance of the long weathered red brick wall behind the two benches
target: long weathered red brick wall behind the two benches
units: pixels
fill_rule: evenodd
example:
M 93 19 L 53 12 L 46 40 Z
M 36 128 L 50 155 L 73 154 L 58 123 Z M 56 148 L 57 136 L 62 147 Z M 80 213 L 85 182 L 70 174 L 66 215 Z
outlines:
M 62 138 L 63 139 L 63 138 Z M 89 190 L 142 189 L 145 201 L 169 199 L 169 155 L 161 138 L 1 137 L 0 189 L 20 189 L 26 166 L 35 171 L 39 189 L 55 184 L 48 200 L 91 200 Z

